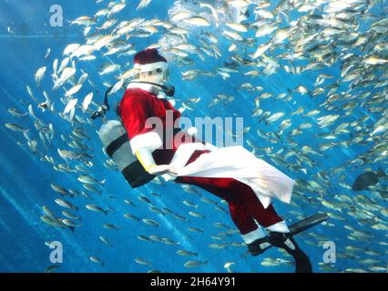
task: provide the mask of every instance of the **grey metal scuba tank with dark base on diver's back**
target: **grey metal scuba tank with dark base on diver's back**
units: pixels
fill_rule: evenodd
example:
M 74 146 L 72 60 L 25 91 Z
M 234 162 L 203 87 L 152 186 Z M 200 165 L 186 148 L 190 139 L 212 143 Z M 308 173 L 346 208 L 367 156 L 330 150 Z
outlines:
M 112 86 L 113 87 L 113 86 Z M 107 89 L 104 98 L 104 105 L 91 115 L 91 119 L 96 119 L 99 116 L 104 116 L 109 110 L 107 103 L 107 95 L 112 87 Z M 132 149 L 129 144 L 127 131 L 122 125 L 121 117 L 116 108 L 117 117 L 119 120 L 108 120 L 102 125 L 98 131 L 98 136 L 104 145 L 107 156 L 115 162 L 121 174 L 126 178 L 132 188 L 142 186 L 151 181 L 155 176 L 150 175 L 143 166 L 141 166 L 138 158 L 132 154 Z

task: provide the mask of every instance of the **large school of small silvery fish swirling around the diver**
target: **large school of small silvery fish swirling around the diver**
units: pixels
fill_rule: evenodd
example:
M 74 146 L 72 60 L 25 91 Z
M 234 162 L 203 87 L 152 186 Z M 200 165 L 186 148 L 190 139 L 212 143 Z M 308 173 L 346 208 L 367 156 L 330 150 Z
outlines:
M 222 108 L 233 111 L 234 105 L 245 104 L 251 117 L 244 120 L 244 146 L 288 175 L 298 176 L 291 205 L 281 215 L 289 221 L 318 212 L 331 217 L 319 235 L 313 229 L 302 234 L 301 245 L 341 244 L 337 260 L 349 262 L 349 267 L 324 263 L 316 267 L 324 272 L 387 272 L 388 18 L 374 13 L 385 2 L 182 0 L 171 1 L 166 19 L 141 14 L 156 5 L 153 1 L 135 2 L 134 6 L 128 0 L 98 0 L 95 12 L 72 20 L 71 26 L 77 27 L 84 42 L 64 44 L 63 54 L 56 58 L 47 48 L 42 67 L 32 73 L 36 83 L 26 85 L 26 95 L 19 100 L 24 110 L 8 109 L 10 122 L 5 126 L 20 136 L 18 145 L 77 185 L 68 188 L 51 182 L 56 208 L 42 206 L 42 223 L 77 232 L 83 226 L 81 217 L 93 215 L 101 231 L 128 232 L 128 240 L 141 241 L 149 253 L 175 248 L 175 256 L 187 259 L 182 268 L 200 270 L 209 264 L 211 258 L 195 248 L 204 236 L 212 252 L 241 254 L 234 262 L 220 262 L 225 272 L 239 270 L 244 260 L 253 259 L 230 220 L 225 201 L 193 186 L 177 185 L 176 191 L 183 191 L 185 197 L 176 202 L 177 209 L 187 208 L 186 213 L 179 213 L 164 206 L 164 196 L 174 194 L 163 192 L 164 182 L 159 178 L 150 186 L 158 191 L 127 187 L 117 191 L 122 196 L 112 196 L 106 190 L 110 184 L 106 176 L 117 167 L 101 147 L 90 146 L 98 138 L 100 124 L 89 117 L 101 106 L 108 87 L 114 86 L 110 95 L 122 95 L 123 85 L 137 74 L 132 57 L 145 48 L 139 44 L 147 43 L 168 58 L 173 78 L 193 86 L 208 79 L 233 85 L 235 95 L 223 92 L 222 87 L 211 96 L 180 90 L 171 101 L 181 112 L 207 107 L 212 116 Z M 139 16 L 128 18 L 128 11 L 135 7 Z M 214 66 L 203 70 L 204 64 Z M 278 78 L 275 83 L 274 75 L 288 81 L 279 83 Z M 309 83 L 292 82 L 301 75 L 307 75 Z M 305 110 L 311 104 L 315 109 Z M 336 166 L 326 166 L 328 159 Z M 357 181 L 357 189 L 363 192 L 356 193 L 352 185 L 365 173 L 369 174 Z M 133 194 L 138 196 L 136 203 Z M 113 219 L 117 204 L 128 208 L 119 213 L 124 217 L 119 223 Z M 210 219 L 202 209 L 216 210 L 222 220 Z M 176 236 L 153 234 L 171 224 L 185 235 L 180 241 Z M 134 235 L 126 225 L 142 234 Z M 329 235 L 334 229 L 345 233 L 347 240 L 340 242 Z M 96 241 L 115 247 L 114 240 L 99 233 Z M 186 249 L 185 241 L 193 249 Z M 364 247 L 353 246 L 354 241 Z M 86 260 L 107 267 L 100 254 L 90 254 Z M 133 263 L 145 267 L 144 271 L 163 271 L 152 269 L 152 256 L 134 254 Z M 280 252 L 279 257 L 264 254 L 258 264 L 276 271 L 276 266 L 292 262 Z M 58 267 L 47 266 L 46 271 Z

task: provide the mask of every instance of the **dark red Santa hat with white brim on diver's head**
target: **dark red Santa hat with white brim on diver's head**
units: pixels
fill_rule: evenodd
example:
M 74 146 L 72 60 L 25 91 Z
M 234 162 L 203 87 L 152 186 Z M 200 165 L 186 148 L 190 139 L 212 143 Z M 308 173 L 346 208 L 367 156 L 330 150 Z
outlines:
M 138 52 L 133 58 L 134 67 L 140 69 L 140 72 L 150 72 L 158 68 L 167 69 L 167 60 L 158 54 L 156 48 L 148 48 Z

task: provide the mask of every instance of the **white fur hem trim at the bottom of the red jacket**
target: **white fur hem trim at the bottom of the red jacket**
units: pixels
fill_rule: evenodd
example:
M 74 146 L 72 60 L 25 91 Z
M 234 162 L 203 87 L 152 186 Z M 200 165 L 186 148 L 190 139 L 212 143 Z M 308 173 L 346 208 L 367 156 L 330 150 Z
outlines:
M 174 156 L 172 157 L 171 163 L 169 165 L 174 166 L 175 168 L 180 168 L 186 165 L 186 163 L 189 161 L 190 156 L 195 151 L 203 151 L 203 150 L 209 150 L 209 146 L 203 145 L 201 143 L 187 143 L 180 145 L 175 152 Z M 168 180 L 175 180 L 177 176 L 172 176 L 169 174 L 164 174 L 162 177 L 168 181 Z

